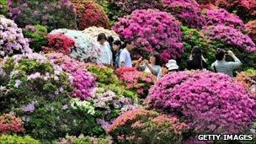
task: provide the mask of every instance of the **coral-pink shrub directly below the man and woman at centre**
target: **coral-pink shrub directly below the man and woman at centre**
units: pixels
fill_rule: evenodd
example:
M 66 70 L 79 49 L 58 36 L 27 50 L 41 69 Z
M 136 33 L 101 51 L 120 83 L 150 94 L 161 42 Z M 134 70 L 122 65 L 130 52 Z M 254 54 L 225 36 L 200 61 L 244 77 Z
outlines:
M 126 89 L 136 92 L 140 98 L 146 98 L 148 89 L 154 84 L 156 77 L 151 73 L 139 72 L 135 68 L 120 67 L 116 69 L 120 83 Z

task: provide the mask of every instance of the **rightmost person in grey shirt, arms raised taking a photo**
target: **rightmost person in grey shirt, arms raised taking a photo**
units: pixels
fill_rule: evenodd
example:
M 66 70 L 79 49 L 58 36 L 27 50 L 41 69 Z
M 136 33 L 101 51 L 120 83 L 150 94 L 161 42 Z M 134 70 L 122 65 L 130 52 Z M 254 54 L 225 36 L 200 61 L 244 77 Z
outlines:
M 226 61 L 226 55 L 231 56 L 234 61 Z M 216 51 L 216 61 L 212 63 L 211 68 L 215 72 L 225 73 L 230 77 L 233 77 L 233 70 L 242 65 L 242 62 L 235 56 L 232 51 L 225 51 L 218 49 Z

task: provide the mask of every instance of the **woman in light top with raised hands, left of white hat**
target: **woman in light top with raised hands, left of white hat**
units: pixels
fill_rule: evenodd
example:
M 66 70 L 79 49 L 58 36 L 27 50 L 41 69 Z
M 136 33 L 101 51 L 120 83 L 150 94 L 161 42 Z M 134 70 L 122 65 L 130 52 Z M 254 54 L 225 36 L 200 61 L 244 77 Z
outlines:
M 160 63 L 160 56 L 159 54 L 151 54 L 149 56 L 149 61 L 140 59 L 138 60 L 139 63 L 141 63 L 141 66 L 137 66 L 139 70 L 143 72 L 149 72 L 157 77 L 162 77 L 162 70 L 159 65 Z

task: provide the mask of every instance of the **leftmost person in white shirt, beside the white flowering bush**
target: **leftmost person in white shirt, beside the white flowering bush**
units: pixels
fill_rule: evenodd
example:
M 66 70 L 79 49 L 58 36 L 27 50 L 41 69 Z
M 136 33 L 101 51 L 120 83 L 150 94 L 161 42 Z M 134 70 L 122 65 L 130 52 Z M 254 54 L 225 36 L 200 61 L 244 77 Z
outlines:
M 101 45 L 100 56 L 97 60 L 98 64 L 112 65 L 112 51 L 107 42 L 107 36 L 104 33 L 98 35 L 98 42 Z

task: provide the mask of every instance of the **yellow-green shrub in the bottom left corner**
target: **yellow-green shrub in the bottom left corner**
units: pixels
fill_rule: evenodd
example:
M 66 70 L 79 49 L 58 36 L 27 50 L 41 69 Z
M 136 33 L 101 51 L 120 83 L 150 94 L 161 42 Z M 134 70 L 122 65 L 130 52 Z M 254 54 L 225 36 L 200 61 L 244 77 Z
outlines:
M 35 140 L 30 136 L 16 136 L 16 135 L 2 135 L 0 136 L 0 143 L 8 143 L 8 144 L 40 144 L 40 141 Z

